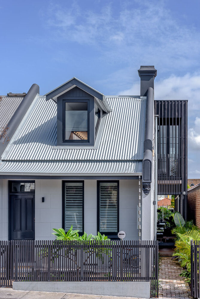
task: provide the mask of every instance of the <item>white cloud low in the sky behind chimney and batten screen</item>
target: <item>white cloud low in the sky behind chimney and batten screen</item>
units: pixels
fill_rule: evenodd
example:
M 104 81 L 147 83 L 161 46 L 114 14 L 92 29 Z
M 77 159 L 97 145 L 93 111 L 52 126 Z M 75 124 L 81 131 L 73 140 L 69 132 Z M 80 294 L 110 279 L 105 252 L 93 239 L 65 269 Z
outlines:
M 200 178 L 200 74 L 156 79 L 155 100 L 188 100 L 188 174 L 189 177 Z M 136 95 L 139 89 L 140 84 L 134 83 L 120 94 Z

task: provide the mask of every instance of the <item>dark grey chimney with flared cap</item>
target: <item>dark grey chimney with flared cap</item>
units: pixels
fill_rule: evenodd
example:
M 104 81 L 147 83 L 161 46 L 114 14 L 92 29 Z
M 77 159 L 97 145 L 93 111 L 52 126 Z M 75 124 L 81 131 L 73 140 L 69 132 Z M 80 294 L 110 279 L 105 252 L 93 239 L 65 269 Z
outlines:
M 154 89 L 154 78 L 157 75 L 157 70 L 154 65 L 141 65 L 138 74 L 140 77 L 140 96 L 144 97 L 149 87 Z

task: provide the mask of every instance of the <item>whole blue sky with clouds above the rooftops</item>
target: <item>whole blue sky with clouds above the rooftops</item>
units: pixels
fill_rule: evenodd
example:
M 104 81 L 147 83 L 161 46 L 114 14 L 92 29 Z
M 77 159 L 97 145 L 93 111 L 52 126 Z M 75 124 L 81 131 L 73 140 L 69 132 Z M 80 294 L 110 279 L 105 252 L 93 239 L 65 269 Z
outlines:
M 45 94 L 78 77 L 107 94 L 139 94 L 155 65 L 155 99 L 188 100 L 188 176 L 200 178 L 200 1 L 1 1 L 1 94 Z

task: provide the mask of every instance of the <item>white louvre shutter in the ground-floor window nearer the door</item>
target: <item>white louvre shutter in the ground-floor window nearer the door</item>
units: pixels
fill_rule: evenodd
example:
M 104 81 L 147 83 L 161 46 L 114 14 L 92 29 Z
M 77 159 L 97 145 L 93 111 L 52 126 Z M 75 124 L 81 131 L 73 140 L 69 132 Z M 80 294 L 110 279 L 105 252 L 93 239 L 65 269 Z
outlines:
M 83 232 L 83 184 L 83 182 L 65 183 L 65 231 L 73 225 L 73 230 Z

